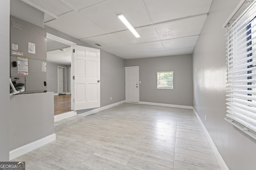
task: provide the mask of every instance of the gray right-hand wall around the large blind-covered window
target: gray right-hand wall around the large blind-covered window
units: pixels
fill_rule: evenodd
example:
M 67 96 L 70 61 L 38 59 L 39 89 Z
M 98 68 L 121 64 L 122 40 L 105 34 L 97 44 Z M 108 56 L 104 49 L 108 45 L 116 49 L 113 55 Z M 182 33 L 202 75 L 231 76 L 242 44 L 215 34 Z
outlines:
M 255 170 L 256 140 L 224 120 L 227 66 L 222 25 L 239 1 L 212 2 L 193 53 L 194 108 L 230 170 Z

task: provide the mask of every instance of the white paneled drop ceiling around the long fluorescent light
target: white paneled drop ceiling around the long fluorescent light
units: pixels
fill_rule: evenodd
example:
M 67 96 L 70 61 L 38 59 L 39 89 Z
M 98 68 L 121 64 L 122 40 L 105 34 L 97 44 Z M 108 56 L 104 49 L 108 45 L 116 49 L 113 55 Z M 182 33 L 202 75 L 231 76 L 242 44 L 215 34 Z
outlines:
M 45 13 L 45 25 L 124 59 L 191 54 L 212 3 L 212 0 L 22 1 Z M 139 38 L 123 25 L 118 14 L 126 16 Z

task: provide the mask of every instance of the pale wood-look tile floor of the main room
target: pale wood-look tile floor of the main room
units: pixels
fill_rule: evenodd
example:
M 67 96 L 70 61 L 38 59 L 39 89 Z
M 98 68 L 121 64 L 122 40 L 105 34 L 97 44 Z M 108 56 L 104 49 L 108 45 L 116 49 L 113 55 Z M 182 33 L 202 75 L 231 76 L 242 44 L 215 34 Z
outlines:
M 220 170 L 191 109 L 124 103 L 12 161 L 26 170 Z

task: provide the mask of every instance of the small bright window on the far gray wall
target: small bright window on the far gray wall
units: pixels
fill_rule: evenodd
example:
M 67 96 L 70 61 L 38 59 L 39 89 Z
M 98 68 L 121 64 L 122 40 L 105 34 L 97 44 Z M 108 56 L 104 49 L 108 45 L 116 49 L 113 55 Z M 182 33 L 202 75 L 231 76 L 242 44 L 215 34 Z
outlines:
M 173 72 L 160 71 L 157 72 L 157 88 L 173 88 Z

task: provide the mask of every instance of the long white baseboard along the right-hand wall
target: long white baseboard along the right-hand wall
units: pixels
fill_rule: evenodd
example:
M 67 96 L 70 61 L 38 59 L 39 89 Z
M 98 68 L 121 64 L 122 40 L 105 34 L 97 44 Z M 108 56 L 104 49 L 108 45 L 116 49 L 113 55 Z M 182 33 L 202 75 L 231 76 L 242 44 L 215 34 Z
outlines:
M 208 142 L 210 143 L 210 145 L 211 145 L 211 147 L 212 147 L 212 150 L 213 150 L 213 152 L 214 152 L 214 155 L 215 155 L 216 159 L 218 160 L 221 169 L 222 169 L 222 170 L 229 170 L 229 169 L 228 169 L 228 166 L 226 165 L 225 161 L 223 160 L 222 156 L 220 155 L 220 152 L 218 151 L 218 149 L 216 148 L 214 142 L 212 141 L 212 138 L 211 138 L 210 134 L 208 133 L 207 129 L 205 128 L 205 126 L 204 126 L 202 120 L 200 119 L 200 117 L 199 117 L 198 114 L 196 113 L 196 110 L 194 109 L 194 107 L 193 107 L 193 111 L 194 111 L 194 113 L 195 113 L 195 115 L 196 115 L 196 118 L 198 119 L 198 121 L 199 121 L 199 123 L 200 123 L 200 125 L 201 125 L 201 127 L 202 127 L 202 129 L 203 129 L 203 131 L 204 131 L 204 134 L 205 134 L 205 136 L 206 136 Z

